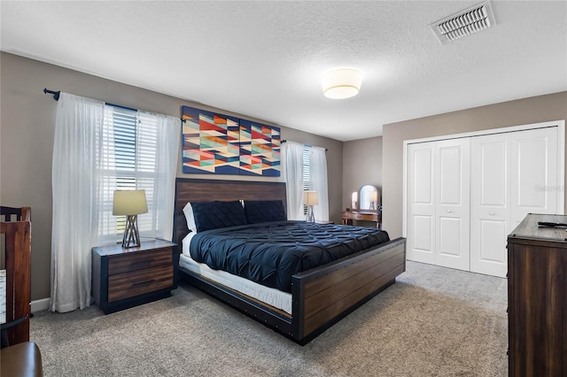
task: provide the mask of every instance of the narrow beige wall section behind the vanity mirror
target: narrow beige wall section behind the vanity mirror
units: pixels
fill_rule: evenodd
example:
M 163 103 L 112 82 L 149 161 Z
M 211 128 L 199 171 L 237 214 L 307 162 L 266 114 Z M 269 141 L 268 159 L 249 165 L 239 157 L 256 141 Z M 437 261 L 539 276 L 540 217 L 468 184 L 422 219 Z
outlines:
M 343 209 L 351 208 L 351 194 L 363 185 L 382 192 L 382 136 L 343 144 Z

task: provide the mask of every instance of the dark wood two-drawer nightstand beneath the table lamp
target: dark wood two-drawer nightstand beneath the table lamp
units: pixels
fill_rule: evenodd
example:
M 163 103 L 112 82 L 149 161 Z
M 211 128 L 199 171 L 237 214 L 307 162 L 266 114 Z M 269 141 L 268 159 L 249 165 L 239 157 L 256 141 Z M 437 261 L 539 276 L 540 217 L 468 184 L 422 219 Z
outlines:
M 105 314 L 171 295 L 175 289 L 175 243 L 144 241 L 92 249 L 92 294 Z

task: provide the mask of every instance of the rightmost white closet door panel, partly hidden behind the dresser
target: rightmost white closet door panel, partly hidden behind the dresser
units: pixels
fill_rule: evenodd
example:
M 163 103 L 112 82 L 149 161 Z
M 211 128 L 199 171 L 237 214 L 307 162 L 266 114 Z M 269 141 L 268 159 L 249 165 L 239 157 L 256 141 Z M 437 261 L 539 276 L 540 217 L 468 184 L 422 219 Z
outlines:
M 557 177 L 557 127 L 512 133 L 512 192 L 509 232 L 528 213 L 562 213 L 557 195 L 563 182 Z M 566 237 L 567 238 L 567 237 Z

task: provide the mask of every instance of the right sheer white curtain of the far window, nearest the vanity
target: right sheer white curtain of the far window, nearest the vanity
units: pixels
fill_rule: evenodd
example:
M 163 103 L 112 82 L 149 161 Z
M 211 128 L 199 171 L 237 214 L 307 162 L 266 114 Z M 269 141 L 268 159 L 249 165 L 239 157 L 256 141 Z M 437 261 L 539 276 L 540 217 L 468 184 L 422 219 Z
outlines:
M 317 220 L 329 220 L 329 193 L 327 188 L 327 152 L 324 148 L 311 147 L 309 150 L 309 175 L 313 189 L 317 191 L 319 204 L 313 207 Z

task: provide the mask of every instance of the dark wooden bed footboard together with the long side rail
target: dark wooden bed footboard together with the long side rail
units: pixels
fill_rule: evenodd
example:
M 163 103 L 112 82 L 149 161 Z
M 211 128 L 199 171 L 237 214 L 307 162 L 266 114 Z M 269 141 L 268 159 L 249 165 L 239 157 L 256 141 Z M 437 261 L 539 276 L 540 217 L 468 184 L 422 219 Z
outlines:
M 310 342 L 406 271 L 406 239 L 386 242 L 292 277 L 291 317 L 180 267 L 180 276 L 299 344 Z

